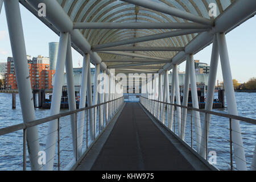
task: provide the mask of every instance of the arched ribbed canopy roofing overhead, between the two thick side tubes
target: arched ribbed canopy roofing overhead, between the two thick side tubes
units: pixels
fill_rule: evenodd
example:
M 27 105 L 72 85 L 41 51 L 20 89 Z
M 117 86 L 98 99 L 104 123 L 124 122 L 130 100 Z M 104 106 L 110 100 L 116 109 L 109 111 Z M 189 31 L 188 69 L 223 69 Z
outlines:
M 181 47 L 187 46 L 189 42 L 195 39 L 198 33 L 193 32 L 192 34 L 154 39 L 146 42 L 135 41 L 131 44 L 123 44 L 126 47 L 133 47 L 127 50 L 125 47 L 122 49 L 122 46 L 119 48 L 107 47 L 105 49 L 97 49 L 97 47 L 101 44 L 111 46 L 114 42 L 126 42 L 126 40 L 135 40 L 135 38 L 143 36 L 154 36 L 188 28 L 208 31 L 213 25 L 214 19 L 208 14 L 209 3 L 216 3 L 217 16 L 222 14 L 222 12 L 233 3 L 232 0 L 213 0 L 210 2 L 206 0 L 57 0 L 57 2 L 59 2 L 65 13 L 67 13 L 72 22 L 74 22 L 73 28 L 81 28 L 79 31 L 84 35 L 85 39 L 88 40 L 89 44 L 92 46 L 92 50 L 98 52 L 102 60 L 131 58 L 130 56 L 120 55 L 120 53 L 117 55 L 110 52 L 102 52 L 106 50 L 118 51 L 118 49 L 171 60 L 178 52 L 184 51 Z M 137 2 L 138 5 L 135 5 Z M 143 3 L 146 3 L 147 6 L 144 6 Z M 139 50 L 136 50 L 136 47 L 140 47 Z M 177 47 L 177 50 L 168 51 L 168 48 L 165 48 L 163 51 L 160 51 L 156 47 L 171 47 L 172 49 Z M 113 61 L 104 63 L 107 66 L 118 64 Z M 164 64 L 156 64 L 155 66 L 163 67 Z

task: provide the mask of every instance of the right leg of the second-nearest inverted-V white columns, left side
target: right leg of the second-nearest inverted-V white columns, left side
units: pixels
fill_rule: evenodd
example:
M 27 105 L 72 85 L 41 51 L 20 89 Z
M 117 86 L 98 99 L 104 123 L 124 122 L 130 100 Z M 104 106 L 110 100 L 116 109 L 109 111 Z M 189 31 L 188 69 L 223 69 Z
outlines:
M 90 60 L 90 57 L 88 56 L 88 60 Z M 93 105 L 92 100 L 92 79 L 91 79 L 91 72 L 90 72 L 90 62 L 88 65 L 88 77 L 87 77 L 87 102 L 88 107 Z M 90 139 L 94 139 L 94 127 L 93 127 L 93 109 L 88 110 L 89 120 L 90 120 Z

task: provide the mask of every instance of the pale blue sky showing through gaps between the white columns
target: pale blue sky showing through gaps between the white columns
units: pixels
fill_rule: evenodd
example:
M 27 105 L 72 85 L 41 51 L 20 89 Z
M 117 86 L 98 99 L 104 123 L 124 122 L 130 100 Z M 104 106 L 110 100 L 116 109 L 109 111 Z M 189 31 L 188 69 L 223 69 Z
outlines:
M 4 6 L 3 6 L 4 7 Z M 45 26 L 38 18 L 20 5 L 22 15 L 23 32 L 27 55 L 49 56 L 48 43 L 59 42 L 59 36 Z M 226 35 L 229 60 L 232 76 L 238 82 L 246 82 L 251 77 L 256 77 L 256 17 L 247 20 Z M 204 48 L 194 55 L 194 59 L 210 64 L 212 45 Z M 7 57 L 12 56 L 5 16 L 5 9 L 0 14 L 0 62 L 6 62 Z M 73 67 L 82 65 L 82 56 L 72 48 Z M 185 71 L 185 62 L 181 63 L 180 71 Z M 218 64 L 217 80 L 222 81 L 220 62 Z

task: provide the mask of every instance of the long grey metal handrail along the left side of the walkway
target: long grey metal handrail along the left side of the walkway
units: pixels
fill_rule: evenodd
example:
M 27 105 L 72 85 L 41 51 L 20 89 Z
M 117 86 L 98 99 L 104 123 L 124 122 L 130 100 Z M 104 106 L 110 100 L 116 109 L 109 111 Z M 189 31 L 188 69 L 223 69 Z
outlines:
M 88 110 L 88 109 L 93 109 L 94 107 L 98 107 L 100 105 L 108 104 L 109 102 L 113 102 L 115 100 L 119 100 L 120 98 L 122 98 L 122 97 L 116 98 L 116 99 L 108 101 L 108 102 L 103 102 L 101 104 L 97 104 L 97 105 L 93 105 L 93 106 L 89 106 L 89 107 L 83 107 L 81 109 L 76 109 L 76 110 L 68 111 L 68 112 L 65 112 L 65 113 L 51 115 L 49 117 L 42 118 L 42 119 L 36 119 L 34 121 L 31 121 L 31 122 L 20 123 L 18 125 L 4 127 L 2 129 L 0 129 L 0 136 L 1 135 L 5 135 L 5 134 L 9 134 L 9 133 L 13 133 L 13 132 L 18 131 L 18 130 L 28 129 L 29 127 L 33 127 L 33 126 L 37 126 L 37 125 L 42 125 L 43 123 L 47 123 L 49 121 L 52 121 L 54 119 L 58 119 L 58 118 L 61 118 L 61 117 L 65 117 L 67 115 L 79 113 L 80 111 L 84 111 L 84 110 Z

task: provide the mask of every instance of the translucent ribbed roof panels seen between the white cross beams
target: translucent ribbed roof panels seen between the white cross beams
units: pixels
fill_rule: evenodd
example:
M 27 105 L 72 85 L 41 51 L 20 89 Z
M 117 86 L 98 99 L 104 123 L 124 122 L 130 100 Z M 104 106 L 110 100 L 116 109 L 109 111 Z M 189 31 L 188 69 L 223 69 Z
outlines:
M 209 3 L 216 3 L 217 15 L 220 15 L 228 6 L 230 0 L 151 0 L 161 3 L 165 6 L 171 6 L 181 11 L 188 11 L 191 14 L 209 17 Z M 76 22 L 191 22 L 176 16 L 159 13 L 158 11 L 139 7 L 138 14 L 135 14 L 135 5 L 123 1 L 110 0 L 57 0 L 64 11 Z M 145 36 L 159 34 L 173 30 L 80 30 L 90 44 L 103 44 L 114 42 L 117 40 L 125 40 L 134 36 Z M 151 40 L 147 42 L 135 43 L 136 46 L 186 46 L 198 34 L 189 34 L 176 36 L 173 38 L 164 38 L 159 40 Z M 125 46 L 133 46 L 131 44 Z M 137 52 L 143 55 L 155 55 L 171 58 L 177 52 Z M 120 55 L 111 55 L 107 53 L 99 53 L 105 59 L 114 57 L 126 57 Z M 117 63 L 106 63 L 117 64 Z

